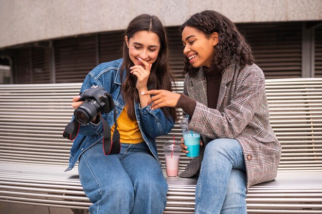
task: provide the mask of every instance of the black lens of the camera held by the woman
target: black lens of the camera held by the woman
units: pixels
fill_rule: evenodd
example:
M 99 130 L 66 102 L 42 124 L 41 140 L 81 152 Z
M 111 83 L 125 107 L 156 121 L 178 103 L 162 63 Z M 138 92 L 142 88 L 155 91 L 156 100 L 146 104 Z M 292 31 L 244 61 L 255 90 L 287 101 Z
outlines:
M 90 123 L 99 114 L 99 104 L 95 100 L 85 100 L 74 112 L 78 122 Z

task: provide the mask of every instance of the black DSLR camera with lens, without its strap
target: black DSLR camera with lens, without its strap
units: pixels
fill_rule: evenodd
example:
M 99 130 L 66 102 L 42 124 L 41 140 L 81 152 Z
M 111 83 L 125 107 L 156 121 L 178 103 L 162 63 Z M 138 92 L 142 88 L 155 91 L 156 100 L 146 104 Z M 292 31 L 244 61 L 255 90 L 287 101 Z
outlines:
M 79 101 L 84 101 L 74 112 L 76 120 L 88 124 L 100 113 L 113 110 L 113 99 L 102 87 L 92 86 L 80 94 Z

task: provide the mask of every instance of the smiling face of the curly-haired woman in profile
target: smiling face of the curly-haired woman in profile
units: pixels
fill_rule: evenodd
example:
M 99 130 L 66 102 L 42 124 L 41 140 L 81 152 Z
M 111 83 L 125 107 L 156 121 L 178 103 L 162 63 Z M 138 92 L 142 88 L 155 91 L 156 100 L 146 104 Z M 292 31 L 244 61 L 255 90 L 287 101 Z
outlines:
M 210 67 L 214 46 L 218 43 L 218 33 L 213 32 L 208 37 L 202 31 L 190 26 L 186 26 L 182 31 L 183 53 L 189 59 L 193 67 Z

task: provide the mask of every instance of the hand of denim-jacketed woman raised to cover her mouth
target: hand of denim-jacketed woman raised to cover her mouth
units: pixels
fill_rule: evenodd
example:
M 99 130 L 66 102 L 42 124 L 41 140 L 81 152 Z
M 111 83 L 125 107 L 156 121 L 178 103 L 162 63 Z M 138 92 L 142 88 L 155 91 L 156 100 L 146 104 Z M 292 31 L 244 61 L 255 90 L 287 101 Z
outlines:
M 148 91 L 147 84 L 152 67 L 152 64 L 147 63 L 145 60 L 140 59 L 140 62 L 144 64 L 145 68 L 141 65 L 134 65 L 130 67 L 130 73 L 137 77 L 136 89 L 139 93 Z

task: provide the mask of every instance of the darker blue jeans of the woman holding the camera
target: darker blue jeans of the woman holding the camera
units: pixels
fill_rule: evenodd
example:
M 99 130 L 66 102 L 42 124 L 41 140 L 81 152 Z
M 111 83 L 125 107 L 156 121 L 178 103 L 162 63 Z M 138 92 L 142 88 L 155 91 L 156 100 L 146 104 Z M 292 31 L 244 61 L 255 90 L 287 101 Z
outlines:
M 96 213 L 163 213 L 168 185 L 145 142 L 121 144 L 117 155 L 103 154 L 101 142 L 79 159 L 80 181 Z

